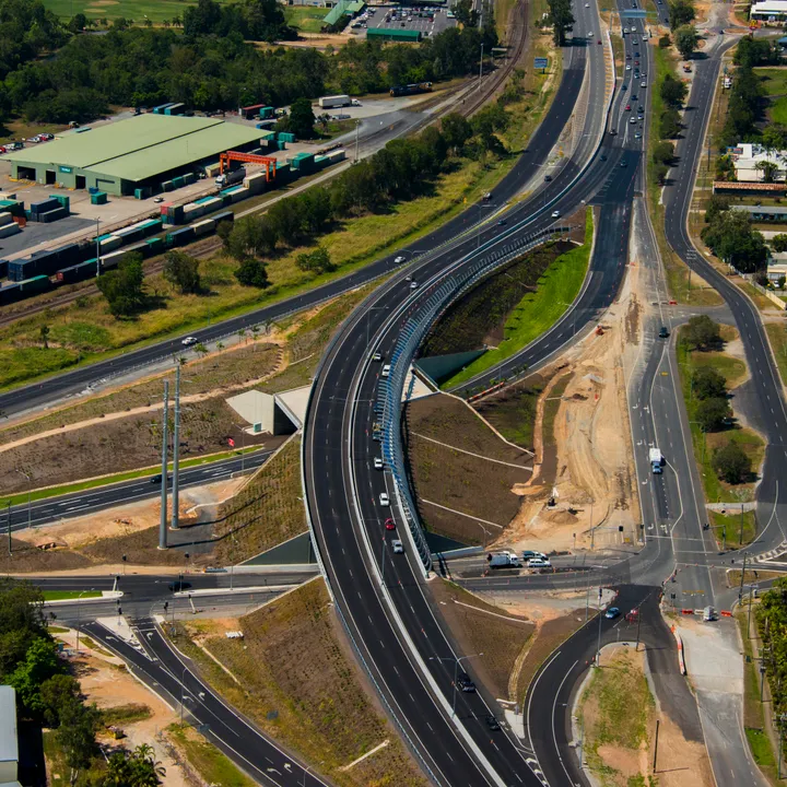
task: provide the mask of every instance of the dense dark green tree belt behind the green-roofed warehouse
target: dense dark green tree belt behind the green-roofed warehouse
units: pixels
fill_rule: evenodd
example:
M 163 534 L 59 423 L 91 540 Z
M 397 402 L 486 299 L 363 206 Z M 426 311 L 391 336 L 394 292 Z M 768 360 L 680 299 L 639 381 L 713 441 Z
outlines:
M 326 92 L 380 92 L 474 73 L 481 44 L 485 51 L 497 44 L 493 23 L 449 28 L 418 47 L 351 42 L 320 52 L 247 43 L 292 34 L 275 0 L 200 0 L 186 9 L 183 31 L 117 20 L 102 35 L 72 33 L 40 0 L 0 0 L 0 121 L 85 122 L 113 105 L 167 101 L 213 111 L 282 106 Z

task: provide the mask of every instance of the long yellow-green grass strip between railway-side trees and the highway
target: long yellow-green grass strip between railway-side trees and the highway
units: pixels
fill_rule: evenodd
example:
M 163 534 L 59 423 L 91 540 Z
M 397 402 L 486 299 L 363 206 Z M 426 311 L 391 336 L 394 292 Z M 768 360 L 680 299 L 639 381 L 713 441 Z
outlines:
M 549 49 L 547 40 L 547 36 L 538 34 L 535 51 L 540 55 Z M 144 312 L 133 320 L 115 319 L 102 296 L 85 295 L 62 309 L 35 315 L 4 331 L 0 339 L 0 389 L 292 297 L 351 273 L 397 245 L 423 237 L 459 213 L 467 203 L 480 199 L 515 165 L 554 95 L 560 58 L 554 59 L 551 68 L 545 74 L 528 69 L 522 80 L 522 95 L 507 105 L 510 122 L 500 136 L 508 155 L 483 162 L 462 160 L 459 166 L 437 179 L 428 196 L 397 203 L 384 213 L 340 222 L 333 232 L 320 238 L 337 265 L 334 272 L 306 273 L 295 265 L 303 248 L 283 250 L 269 262 L 271 286 L 260 292 L 238 284 L 233 275 L 237 263 L 216 254 L 200 265 L 210 297 L 181 295 L 160 274 L 153 275 L 146 280 L 148 290 L 158 293 L 163 307 Z M 40 342 L 44 325 L 50 330 L 46 350 Z

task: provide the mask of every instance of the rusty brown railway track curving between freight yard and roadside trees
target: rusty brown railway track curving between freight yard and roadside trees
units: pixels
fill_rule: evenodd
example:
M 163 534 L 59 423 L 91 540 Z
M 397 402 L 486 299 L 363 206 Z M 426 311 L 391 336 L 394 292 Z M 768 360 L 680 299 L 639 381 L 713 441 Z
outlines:
M 510 40 L 513 42 L 512 46 L 514 47 L 514 50 L 513 52 L 510 52 L 510 56 L 506 59 L 505 63 L 501 68 L 493 71 L 489 77 L 486 77 L 477 90 L 472 91 L 471 94 L 469 94 L 466 98 L 462 99 L 460 106 L 448 107 L 443 114 L 447 114 L 448 111 L 457 111 L 465 117 L 470 117 L 503 87 L 505 81 L 508 79 L 512 71 L 516 68 L 525 51 L 525 44 L 527 42 L 526 8 L 527 5 L 525 1 L 519 0 L 519 2 L 517 2 L 517 4 L 514 7 L 514 11 L 512 12 L 514 21 L 512 24 Z M 462 90 L 466 89 L 459 87 L 456 92 L 459 93 Z M 425 128 L 426 126 L 430 126 L 431 124 L 438 120 L 439 117 L 441 115 L 434 115 L 424 119 L 422 124 L 419 124 L 411 129 L 411 133 L 415 133 Z M 364 142 L 368 143 L 369 140 L 374 140 L 376 137 L 383 133 L 387 133 L 388 131 L 390 131 L 390 128 L 388 127 L 376 131 L 366 137 Z M 341 172 L 341 169 L 338 172 Z M 336 174 L 338 174 L 338 172 Z M 269 203 L 263 203 L 255 208 L 247 209 L 246 211 L 242 211 L 239 215 L 248 215 L 250 213 L 266 210 L 268 208 L 268 204 Z M 222 243 L 219 238 L 211 237 L 207 238 L 204 242 L 198 242 L 197 244 L 192 244 L 188 248 L 189 254 L 192 257 L 196 257 L 197 259 L 205 259 L 213 255 L 215 251 L 218 251 L 221 248 L 221 245 Z M 145 277 L 161 273 L 163 268 L 164 259 L 154 259 L 144 267 Z M 68 306 L 69 304 L 74 303 L 82 296 L 96 295 L 98 293 L 98 287 L 95 284 L 89 282 L 85 282 L 82 285 L 75 284 L 73 286 L 75 289 L 69 292 L 57 292 L 51 297 L 39 299 L 35 303 L 25 304 L 23 302 L 19 304 L 19 308 L 16 309 L 14 309 L 14 306 L 4 308 L 3 314 L 0 315 L 0 327 L 13 325 L 19 320 L 34 317 L 42 312 L 47 312 L 55 308 L 62 308 L 63 306 Z

